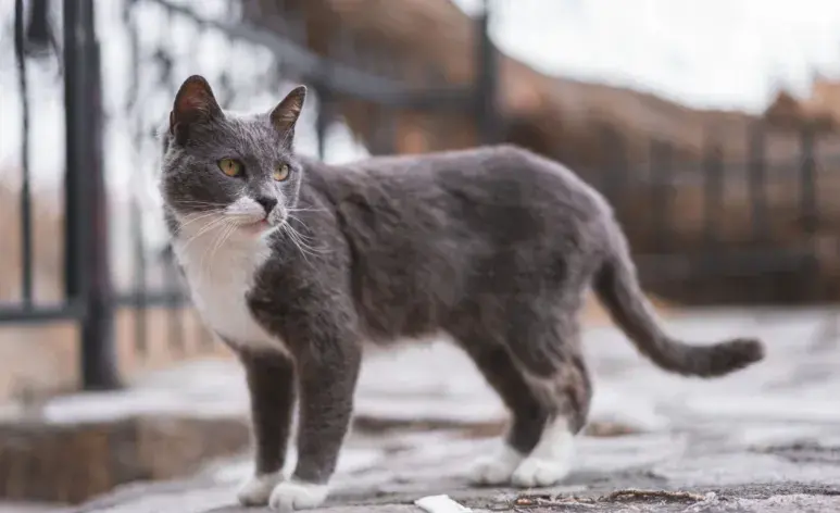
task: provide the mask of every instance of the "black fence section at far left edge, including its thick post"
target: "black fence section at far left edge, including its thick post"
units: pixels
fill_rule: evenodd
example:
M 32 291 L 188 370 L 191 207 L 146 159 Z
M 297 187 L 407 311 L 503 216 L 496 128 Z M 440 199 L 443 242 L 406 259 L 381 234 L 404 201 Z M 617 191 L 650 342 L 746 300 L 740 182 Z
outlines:
M 30 102 L 26 66 L 38 46 L 58 49 L 48 2 L 15 0 L 14 48 L 22 105 L 21 300 L 0 306 L 0 322 L 77 320 L 84 350 L 82 373 L 87 388 L 117 383 L 110 340 L 112 298 L 105 240 L 102 168 L 101 82 L 99 43 L 93 29 L 92 2 L 63 4 L 63 72 L 66 122 L 64 195 L 64 300 L 43 304 L 34 293 L 33 207 L 29 173 Z M 27 15 L 28 14 L 28 15 Z M 27 23 L 28 22 L 28 23 Z

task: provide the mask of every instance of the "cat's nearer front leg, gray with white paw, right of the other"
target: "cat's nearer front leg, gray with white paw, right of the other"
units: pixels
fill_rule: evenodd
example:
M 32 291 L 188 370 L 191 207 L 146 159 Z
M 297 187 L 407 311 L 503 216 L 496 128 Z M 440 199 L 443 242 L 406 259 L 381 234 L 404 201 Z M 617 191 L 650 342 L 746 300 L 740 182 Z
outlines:
M 335 334 L 319 338 L 323 334 L 313 333 L 296 354 L 301 395 L 298 466 L 290 480 L 272 491 L 268 503 L 274 510 L 323 504 L 350 427 L 361 351 L 352 338 Z

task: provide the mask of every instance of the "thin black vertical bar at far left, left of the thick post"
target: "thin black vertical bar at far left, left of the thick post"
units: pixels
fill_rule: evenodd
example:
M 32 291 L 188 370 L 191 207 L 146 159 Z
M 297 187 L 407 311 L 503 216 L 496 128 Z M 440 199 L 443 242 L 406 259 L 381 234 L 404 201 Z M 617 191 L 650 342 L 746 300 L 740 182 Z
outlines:
M 21 90 L 21 296 L 24 308 L 33 304 L 33 223 L 32 190 L 29 184 L 29 95 L 26 80 L 26 38 L 24 34 L 23 0 L 14 2 L 14 52 Z

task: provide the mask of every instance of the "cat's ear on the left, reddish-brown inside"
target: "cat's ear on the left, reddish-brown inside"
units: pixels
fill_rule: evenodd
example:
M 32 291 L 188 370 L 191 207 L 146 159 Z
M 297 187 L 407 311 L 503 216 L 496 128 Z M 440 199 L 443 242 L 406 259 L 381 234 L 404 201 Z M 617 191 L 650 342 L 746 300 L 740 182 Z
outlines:
M 222 115 L 222 108 L 218 107 L 208 80 L 201 75 L 192 75 L 184 80 L 175 95 L 175 103 L 170 113 L 170 134 L 178 145 L 183 145 L 189 139 L 190 126 L 210 122 Z

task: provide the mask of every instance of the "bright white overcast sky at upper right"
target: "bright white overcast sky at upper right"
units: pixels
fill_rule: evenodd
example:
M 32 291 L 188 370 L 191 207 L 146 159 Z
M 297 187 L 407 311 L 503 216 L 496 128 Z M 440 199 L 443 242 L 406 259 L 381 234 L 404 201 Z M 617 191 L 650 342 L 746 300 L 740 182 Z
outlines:
M 815 67 L 840 77 L 838 0 L 492 3 L 498 41 L 534 66 L 699 107 L 755 111 L 778 84 L 806 92 Z

